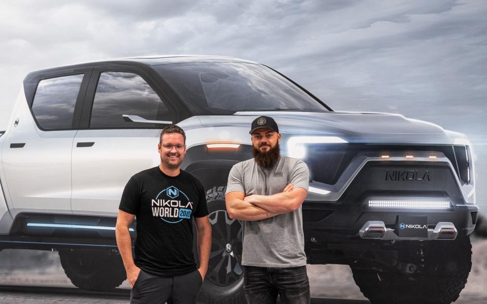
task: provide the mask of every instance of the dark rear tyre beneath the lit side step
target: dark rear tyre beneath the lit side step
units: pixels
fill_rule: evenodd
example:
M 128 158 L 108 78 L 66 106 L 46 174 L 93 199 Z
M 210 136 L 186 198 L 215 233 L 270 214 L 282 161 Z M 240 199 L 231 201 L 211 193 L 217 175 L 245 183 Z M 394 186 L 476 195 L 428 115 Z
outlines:
M 64 273 L 78 288 L 110 290 L 127 278 L 120 254 L 96 249 L 65 249 L 59 251 Z

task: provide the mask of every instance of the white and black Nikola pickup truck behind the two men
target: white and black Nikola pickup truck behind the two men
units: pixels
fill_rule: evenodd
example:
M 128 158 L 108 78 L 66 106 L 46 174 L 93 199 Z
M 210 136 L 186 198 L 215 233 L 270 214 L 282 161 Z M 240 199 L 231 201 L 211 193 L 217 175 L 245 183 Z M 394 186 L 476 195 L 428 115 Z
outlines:
M 226 57 L 30 72 L 0 132 L 0 250 L 56 250 L 79 288 L 119 286 L 124 185 L 159 164 L 160 129 L 178 124 L 182 169 L 202 181 L 213 226 L 199 298 L 243 303 L 241 222 L 228 216 L 224 193 L 230 168 L 252 158 L 248 131 L 261 115 L 279 125 L 282 154 L 310 171 L 301 207 L 309 264 L 350 265 L 372 303 L 458 298 L 478 213 L 467 137 L 397 114 L 335 111 L 268 66 Z

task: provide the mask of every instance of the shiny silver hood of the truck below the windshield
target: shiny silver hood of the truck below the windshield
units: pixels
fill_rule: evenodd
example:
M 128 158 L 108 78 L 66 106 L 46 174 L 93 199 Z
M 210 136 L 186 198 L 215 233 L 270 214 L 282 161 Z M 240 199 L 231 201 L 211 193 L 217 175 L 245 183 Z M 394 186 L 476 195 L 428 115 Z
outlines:
M 215 131 L 227 127 L 225 129 L 234 133 L 235 137 L 250 137 L 250 125 L 261 115 L 272 117 L 284 137 L 321 135 L 337 136 L 348 142 L 416 144 L 461 144 L 459 140 L 466 140 L 465 135 L 461 133 L 391 113 L 246 111 L 236 112 L 231 116 L 199 116 L 198 120 L 202 126 L 212 129 L 216 127 L 217 129 L 213 129 Z M 189 125 L 186 127 L 191 128 Z M 246 132 L 246 135 L 237 135 L 241 132 Z

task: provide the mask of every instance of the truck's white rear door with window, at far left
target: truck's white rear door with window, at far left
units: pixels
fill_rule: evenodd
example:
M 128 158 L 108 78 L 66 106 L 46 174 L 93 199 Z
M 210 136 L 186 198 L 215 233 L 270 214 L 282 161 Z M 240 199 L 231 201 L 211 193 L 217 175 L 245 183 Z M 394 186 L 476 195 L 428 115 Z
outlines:
M 19 95 L 2 151 L 13 216 L 72 212 L 71 151 L 89 77 L 42 75 L 27 84 L 33 98 Z

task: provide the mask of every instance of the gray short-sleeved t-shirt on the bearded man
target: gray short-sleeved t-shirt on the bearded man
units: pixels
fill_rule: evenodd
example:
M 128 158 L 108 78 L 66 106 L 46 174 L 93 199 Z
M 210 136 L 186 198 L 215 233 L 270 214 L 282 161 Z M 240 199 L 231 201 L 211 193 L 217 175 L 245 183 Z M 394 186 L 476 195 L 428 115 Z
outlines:
M 230 170 L 225 195 L 242 191 L 273 195 L 287 184 L 308 191 L 309 171 L 303 161 L 280 156 L 272 169 L 262 169 L 254 159 L 235 164 Z M 298 267 L 306 265 L 301 208 L 274 217 L 242 221 L 242 264 L 256 267 Z

